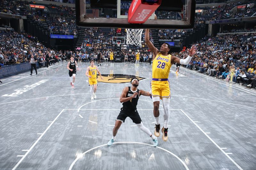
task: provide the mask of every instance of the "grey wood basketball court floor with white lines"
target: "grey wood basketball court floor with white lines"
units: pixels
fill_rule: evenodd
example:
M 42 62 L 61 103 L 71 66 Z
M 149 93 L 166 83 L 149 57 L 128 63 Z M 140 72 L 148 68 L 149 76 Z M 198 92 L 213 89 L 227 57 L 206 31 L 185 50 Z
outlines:
M 91 100 L 89 64 L 78 63 L 74 89 L 66 64 L 3 80 L 0 169 L 255 169 L 255 91 L 183 68 L 176 76 L 173 66 L 168 141 L 161 133 L 153 147 L 127 118 L 108 146 L 122 89 L 136 76 L 138 88 L 150 91 L 151 66 L 103 63 L 104 82 Z M 141 96 L 137 108 L 153 133 L 152 100 Z

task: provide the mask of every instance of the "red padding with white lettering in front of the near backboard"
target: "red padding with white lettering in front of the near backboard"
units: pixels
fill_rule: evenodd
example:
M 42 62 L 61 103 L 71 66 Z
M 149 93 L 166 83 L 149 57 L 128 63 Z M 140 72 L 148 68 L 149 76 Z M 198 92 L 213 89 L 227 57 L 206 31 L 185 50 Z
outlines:
M 131 24 L 143 24 L 153 12 L 160 6 L 158 3 L 146 3 L 143 0 L 133 0 L 128 11 L 128 22 Z

